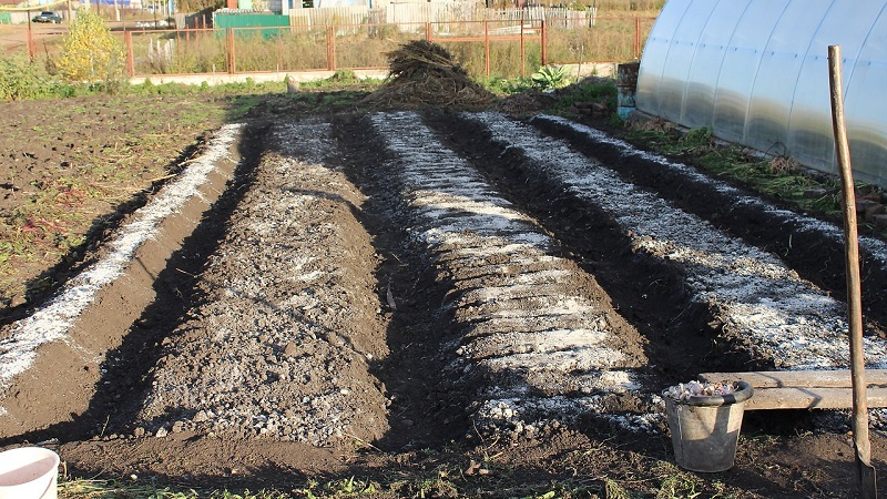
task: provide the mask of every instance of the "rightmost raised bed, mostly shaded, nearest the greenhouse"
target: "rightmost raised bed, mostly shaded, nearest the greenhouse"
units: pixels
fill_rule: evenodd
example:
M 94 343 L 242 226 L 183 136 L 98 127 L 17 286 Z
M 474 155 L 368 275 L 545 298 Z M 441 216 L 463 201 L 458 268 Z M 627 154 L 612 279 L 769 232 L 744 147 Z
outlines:
M 593 128 L 541 115 L 530 122 L 562 138 L 585 155 L 638 186 L 654 191 L 676 206 L 704 218 L 750 244 L 779 255 L 798 274 L 832 295 L 846 296 L 844 230 L 834 223 L 781 208 L 761 197 L 712 179 L 686 164 L 638 150 Z M 859 238 L 863 304 L 873 328 L 887 323 L 887 244 Z

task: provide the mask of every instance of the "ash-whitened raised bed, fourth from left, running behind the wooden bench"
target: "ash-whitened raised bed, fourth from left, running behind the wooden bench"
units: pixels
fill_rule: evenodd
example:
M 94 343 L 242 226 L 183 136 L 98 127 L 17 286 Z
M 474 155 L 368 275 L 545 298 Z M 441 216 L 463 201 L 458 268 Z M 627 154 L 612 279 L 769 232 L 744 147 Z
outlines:
M 523 163 L 560 190 L 611 217 L 632 251 L 684 279 L 692 304 L 722 323 L 736 349 L 777 368 L 847 366 L 845 305 L 798 277 L 779 258 L 727 235 L 598 161 L 530 125 L 496 113 L 465 115 L 489 130 L 508 161 Z M 680 345 L 675 347 L 680 348 Z M 866 338 L 869 366 L 887 365 L 887 347 Z

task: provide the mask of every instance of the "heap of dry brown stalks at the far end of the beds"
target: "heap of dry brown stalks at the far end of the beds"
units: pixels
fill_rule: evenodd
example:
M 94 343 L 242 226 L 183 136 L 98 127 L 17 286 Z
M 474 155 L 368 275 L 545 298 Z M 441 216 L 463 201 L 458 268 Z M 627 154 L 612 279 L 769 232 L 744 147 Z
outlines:
M 375 109 L 450 108 L 477 111 L 488 108 L 496 95 L 471 81 L 447 49 L 416 40 L 388 52 L 389 75 L 367 96 Z

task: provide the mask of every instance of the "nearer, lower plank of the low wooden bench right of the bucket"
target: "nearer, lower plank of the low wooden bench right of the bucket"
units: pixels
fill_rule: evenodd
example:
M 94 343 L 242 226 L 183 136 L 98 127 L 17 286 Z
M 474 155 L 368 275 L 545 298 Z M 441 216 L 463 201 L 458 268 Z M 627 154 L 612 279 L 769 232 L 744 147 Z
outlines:
M 868 407 L 887 407 L 887 388 L 868 388 Z M 849 409 L 852 388 L 762 388 L 746 400 L 745 410 Z

